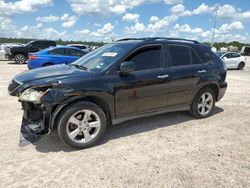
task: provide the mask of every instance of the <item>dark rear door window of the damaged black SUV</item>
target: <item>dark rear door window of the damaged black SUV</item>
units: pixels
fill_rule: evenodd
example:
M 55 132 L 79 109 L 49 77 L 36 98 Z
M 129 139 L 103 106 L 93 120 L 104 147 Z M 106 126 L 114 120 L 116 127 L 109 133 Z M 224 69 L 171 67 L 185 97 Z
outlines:
M 189 48 L 186 46 L 169 45 L 171 66 L 191 65 Z

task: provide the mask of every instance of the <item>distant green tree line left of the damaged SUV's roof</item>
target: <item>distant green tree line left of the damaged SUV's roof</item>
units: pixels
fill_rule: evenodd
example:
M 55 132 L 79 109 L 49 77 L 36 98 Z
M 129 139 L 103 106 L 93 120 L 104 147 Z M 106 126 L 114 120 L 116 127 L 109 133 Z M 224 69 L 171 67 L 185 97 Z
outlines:
M 26 44 L 32 40 L 36 39 L 27 39 L 27 38 L 3 38 L 0 37 L 0 44 L 1 43 L 22 43 Z M 88 42 L 88 41 L 73 41 L 73 40 L 67 40 L 63 41 L 62 39 L 56 40 L 56 44 L 58 45 L 67 45 L 67 44 L 87 44 L 90 46 L 103 46 L 105 43 L 103 42 Z

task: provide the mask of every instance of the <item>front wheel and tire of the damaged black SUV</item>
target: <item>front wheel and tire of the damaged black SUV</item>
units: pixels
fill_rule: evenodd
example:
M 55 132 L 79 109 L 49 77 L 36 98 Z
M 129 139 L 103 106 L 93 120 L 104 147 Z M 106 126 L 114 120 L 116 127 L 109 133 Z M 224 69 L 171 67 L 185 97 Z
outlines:
M 73 148 L 96 145 L 105 133 L 107 119 L 102 109 L 91 102 L 74 103 L 63 110 L 58 121 L 58 136 Z

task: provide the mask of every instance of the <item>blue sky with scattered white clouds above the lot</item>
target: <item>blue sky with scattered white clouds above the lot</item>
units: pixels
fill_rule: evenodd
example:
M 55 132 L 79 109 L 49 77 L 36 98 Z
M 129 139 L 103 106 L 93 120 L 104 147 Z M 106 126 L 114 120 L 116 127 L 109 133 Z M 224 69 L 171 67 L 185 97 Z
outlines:
M 0 0 L 0 37 L 167 36 L 209 42 L 217 7 L 215 40 L 250 43 L 249 0 Z

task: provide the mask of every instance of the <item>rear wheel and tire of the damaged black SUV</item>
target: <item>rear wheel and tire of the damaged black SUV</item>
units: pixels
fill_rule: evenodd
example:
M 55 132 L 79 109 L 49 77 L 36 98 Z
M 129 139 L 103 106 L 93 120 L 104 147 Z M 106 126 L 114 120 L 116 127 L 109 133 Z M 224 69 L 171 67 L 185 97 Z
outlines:
M 203 88 L 195 96 L 189 112 L 196 118 L 206 118 L 213 112 L 214 105 L 214 91 L 211 88 Z

